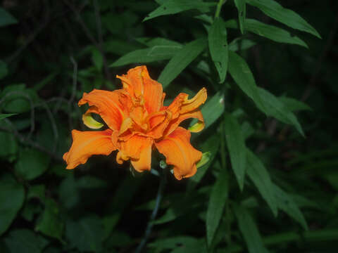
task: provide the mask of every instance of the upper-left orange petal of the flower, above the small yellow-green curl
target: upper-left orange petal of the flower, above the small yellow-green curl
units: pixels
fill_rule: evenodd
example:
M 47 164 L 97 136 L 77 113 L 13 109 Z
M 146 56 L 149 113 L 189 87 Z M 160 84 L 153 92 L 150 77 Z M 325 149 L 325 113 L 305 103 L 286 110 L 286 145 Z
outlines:
M 88 103 L 96 108 L 102 119 L 110 129 L 119 130 L 124 117 L 124 105 L 120 103 L 120 97 L 125 96 L 120 90 L 101 91 L 94 89 L 89 93 L 83 93 L 79 105 Z

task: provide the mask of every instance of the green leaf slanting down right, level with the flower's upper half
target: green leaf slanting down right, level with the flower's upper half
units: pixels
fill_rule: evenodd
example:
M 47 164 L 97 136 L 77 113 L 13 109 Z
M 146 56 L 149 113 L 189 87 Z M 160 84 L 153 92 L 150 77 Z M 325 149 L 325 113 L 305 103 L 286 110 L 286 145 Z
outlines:
M 264 101 L 264 108 L 259 106 L 258 108 L 263 110 L 268 116 L 275 117 L 285 124 L 292 124 L 296 127 L 297 131 L 304 136 L 303 129 L 296 116 L 281 102 L 281 100 L 265 89 L 258 88 L 258 93 Z

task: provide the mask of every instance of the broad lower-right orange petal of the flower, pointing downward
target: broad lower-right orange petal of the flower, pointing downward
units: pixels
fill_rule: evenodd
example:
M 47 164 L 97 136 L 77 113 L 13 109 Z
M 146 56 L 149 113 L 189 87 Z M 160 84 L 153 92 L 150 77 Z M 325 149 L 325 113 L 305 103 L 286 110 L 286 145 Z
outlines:
M 155 143 L 160 153 L 165 155 L 167 164 L 174 166 L 175 178 L 180 180 L 196 173 L 196 162 L 199 162 L 202 153 L 190 144 L 190 132 L 177 127 L 162 141 Z

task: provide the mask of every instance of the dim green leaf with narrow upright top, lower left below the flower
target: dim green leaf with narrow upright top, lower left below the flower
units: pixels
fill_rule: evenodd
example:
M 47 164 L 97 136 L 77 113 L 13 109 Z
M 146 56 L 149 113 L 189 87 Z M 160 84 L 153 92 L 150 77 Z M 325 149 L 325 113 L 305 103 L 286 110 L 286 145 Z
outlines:
M 50 198 L 46 199 L 44 206 L 44 212 L 35 226 L 35 231 L 40 231 L 44 235 L 56 238 L 62 242 L 64 223 L 60 216 L 59 207 Z

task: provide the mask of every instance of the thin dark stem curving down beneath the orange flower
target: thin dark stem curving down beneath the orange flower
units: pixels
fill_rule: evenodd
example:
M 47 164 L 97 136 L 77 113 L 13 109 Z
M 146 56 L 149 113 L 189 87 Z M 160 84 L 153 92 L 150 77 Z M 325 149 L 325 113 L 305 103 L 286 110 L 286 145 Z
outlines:
M 153 209 L 153 212 L 151 213 L 150 219 L 148 221 L 148 225 L 146 226 L 146 232 L 144 233 L 144 238 L 142 239 L 141 243 L 139 244 L 139 247 L 137 247 L 137 249 L 135 250 L 135 253 L 141 253 L 142 249 L 146 245 L 146 241 L 149 239 L 151 229 L 154 226 L 153 221 L 156 219 L 158 209 L 160 209 L 161 200 L 162 200 L 162 197 L 163 197 L 163 191 L 164 191 L 164 188 L 165 188 L 165 181 L 166 181 L 166 179 L 165 179 L 165 169 L 161 169 L 161 171 L 160 171 L 160 184 L 158 186 L 158 192 L 157 192 L 157 196 L 156 196 L 155 207 Z

